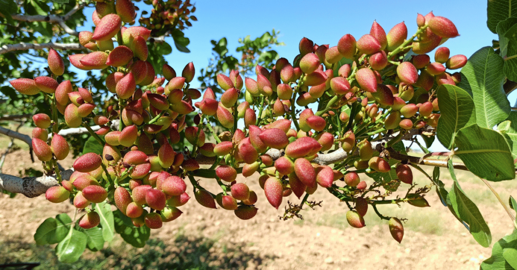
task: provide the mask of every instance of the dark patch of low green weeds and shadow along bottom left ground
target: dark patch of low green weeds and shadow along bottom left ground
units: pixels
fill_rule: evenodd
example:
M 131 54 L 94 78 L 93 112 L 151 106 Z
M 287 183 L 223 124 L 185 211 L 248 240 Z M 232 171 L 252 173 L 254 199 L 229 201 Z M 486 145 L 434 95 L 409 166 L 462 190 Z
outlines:
M 222 243 L 178 233 L 170 240 L 147 241 L 147 248 L 135 248 L 126 243 L 110 245 L 95 253 L 88 252 L 87 258 L 74 263 L 60 262 L 49 246 L 36 246 L 19 240 L 0 242 L 0 264 L 17 262 L 40 262 L 35 269 L 67 270 L 131 270 L 139 269 L 239 269 L 260 262 L 267 255 L 257 255 L 245 250 L 245 246 Z

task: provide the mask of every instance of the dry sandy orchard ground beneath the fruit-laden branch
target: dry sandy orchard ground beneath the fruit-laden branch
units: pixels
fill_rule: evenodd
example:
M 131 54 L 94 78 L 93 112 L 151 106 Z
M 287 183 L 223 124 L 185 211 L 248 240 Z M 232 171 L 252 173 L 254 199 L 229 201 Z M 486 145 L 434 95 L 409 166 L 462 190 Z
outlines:
M 5 146 L 0 145 L 0 149 L 5 149 Z M 70 167 L 71 164 L 71 157 L 62 162 L 64 167 Z M 7 156 L 3 172 L 20 175 L 20 170 L 29 167 L 41 170 L 39 162 L 31 164 L 26 150 L 16 150 Z M 431 172 L 430 169 L 428 171 Z M 429 184 L 420 172 L 414 172 L 414 175 L 419 186 Z M 279 210 L 272 208 L 257 178 L 237 179 L 238 182 L 247 183 L 258 194 L 258 214 L 251 220 L 240 220 L 233 211 L 202 207 L 193 198 L 189 185 L 188 193 L 192 198 L 180 208 L 183 215 L 164 224 L 163 228 L 152 231 L 148 247 L 136 249 L 124 244 L 118 237 L 110 245 L 105 244 L 105 250 L 86 251 L 83 257 L 97 258 L 110 269 L 198 267 L 409 270 L 479 269 L 480 263 L 491 254 L 492 246 L 483 248 L 477 244 L 463 225 L 438 201 L 434 188 L 427 196 L 431 204 L 429 208 L 415 208 L 408 204 L 402 205 L 402 208 L 397 205 L 378 207 L 384 215 L 408 218 L 404 225 L 404 239 L 399 244 L 391 238 L 386 220 L 379 219 L 372 208 L 365 218 L 366 227 L 354 229 L 348 226 L 345 219 L 346 204 L 340 203 L 323 188 L 310 197 L 313 201 L 323 201 L 321 208 L 304 209 L 301 212 L 303 220 L 280 220 L 279 216 L 283 214 L 287 201 L 297 203 L 300 200 L 291 195 L 284 198 Z M 511 220 L 490 190 L 468 172 L 458 172 L 458 178 L 486 219 L 492 231 L 492 245 L 510 233 Z M 366 176 L 363 180 L 368 183 L 372 181 Z M 450 187 L 452 182 L 446 170 L 442 170 L 442 180 Z M 201 184 L 213 192 L 218 188 L 215 180 L 203 179 Z M 505 201 L 509 195 L 517 198 L 515 181 L 493 183 L 493 187 Z M 6 255 L 2 250 L 0 263 L 5 263 L 7 258 L 10 262 L 37 258 L 34 252 L 37 252 L 38 247 L 34 246 L 33 235 L 39 224 L 45 218 L 59 213 L 68 213 L 73 217 L 73 212 L 73 205 L 53 204 L 46 201 L 44 196 L 33 199 L 21 195 L 13 199 L 0 196 L 0 219 L 3 220 L 0 223 L 0 247 L 3 247 L 0 249 L 12 248 L 18 254 Z M 138 253 L 140 256 L 137 256 Z M 144 265 L 146 256 L 147 260 L 153 262 Z M 179 261 L 179 264 L 171 264 L 172 261 Z M 77 265 L 65 264 L 61 267 L 79 268 Z

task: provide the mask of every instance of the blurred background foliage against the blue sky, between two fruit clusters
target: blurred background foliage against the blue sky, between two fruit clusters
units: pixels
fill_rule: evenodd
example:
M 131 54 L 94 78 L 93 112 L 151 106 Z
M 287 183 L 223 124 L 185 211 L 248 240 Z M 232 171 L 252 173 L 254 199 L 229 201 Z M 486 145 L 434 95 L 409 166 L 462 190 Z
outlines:
M 280 31 L 273 29 L 271 33 L 268 31 L 262 36 L 252 40 L 250 36 L 244 39 L 239 38 L 240 46 L 235 50 L 240 53 L 240 57 L 229 54 L 227 48 L 228 41 L 221 38 L 219 41 L 211 40 L 212 57 L 209 59 L 208 66 L 200 70 L 201 76 L 197 80 L 201 82 L 201 87 L 210 87 L 214 92 L 221 90 L 216 83 L 216 77 L 219 73 L 227 73 L 230 70 L 238 70 L 241 75 L 252 76 L 255 73 L 255 66 L 260 65 L 267 69 L 271 69 L 276 59 L 280 58 L 278 53 L 273 50 L 273 46 L 283 46 L 283 42 L 278 41 Z M 239 60 L 240 58 L 240 60 Z

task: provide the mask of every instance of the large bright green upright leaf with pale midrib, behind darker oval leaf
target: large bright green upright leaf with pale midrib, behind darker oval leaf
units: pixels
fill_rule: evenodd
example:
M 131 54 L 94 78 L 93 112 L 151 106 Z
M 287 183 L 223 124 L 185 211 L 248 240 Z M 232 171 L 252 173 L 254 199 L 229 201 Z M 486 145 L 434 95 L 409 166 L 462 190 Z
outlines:
M 503 58 L 487 46 L 470 56 L 461 70 L 472 90 L 476 121 L 481 128 L 492 129 L 510 113 L 510 102 L 503 89 L 503 65 Z

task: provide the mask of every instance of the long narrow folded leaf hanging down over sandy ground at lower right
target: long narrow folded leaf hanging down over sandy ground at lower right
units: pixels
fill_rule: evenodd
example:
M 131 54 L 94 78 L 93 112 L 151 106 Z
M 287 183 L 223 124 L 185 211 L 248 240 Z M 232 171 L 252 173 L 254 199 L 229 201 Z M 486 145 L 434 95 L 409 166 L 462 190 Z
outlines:
M 448 163 L 449 172 L 451 174 L 454 183 L 452 184 L 452 188 L 449 192 L 450 202 L 452 204 L 452 208 L 454 212 L 458 215 L 458 217 L 465 221 L 469 226 L 469 231 L 474 239 L 483 247 L 490 246 L 492 242 L 492 234 L 490 233 L 490 228 L 486 225 L 486 222 L 479 212 L 476 204 L 471 201 L 467 195 L 463 192 L 456 179 L 456 175 L 454 173 L 454 168 L 452 166 L 452 161 L 449 160 Z

